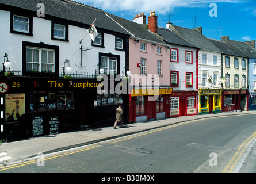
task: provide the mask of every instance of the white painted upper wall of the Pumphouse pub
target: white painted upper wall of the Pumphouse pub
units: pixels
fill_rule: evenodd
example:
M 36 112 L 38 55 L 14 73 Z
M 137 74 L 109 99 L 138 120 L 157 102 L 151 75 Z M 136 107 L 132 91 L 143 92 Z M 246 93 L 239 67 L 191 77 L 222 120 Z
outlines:
M 51 21 L 39 17 L 33 17 L 33 36 L 24 36 L 21 34 L 10 33 L 10 12 L 0 10 L 1 26 L 1 42 L 0 42 L 0 58 L 3 59 L 5 53 L 9 55 L 9 60 L 12 62 L 11 70 L 22 70 L 22 41 L 32 43 L 44 42 L 48 45 L 59 46 L 59 72 L 62 72 L 64 61 L 70 60 L 72 73 L 76 71 L 88 72 L 95 74 L 95 69 L 99 62 L 98 53 L 112 53 L 113 55 L 120 55 L 120 73 L 124 71 L 125 67 L 125 52 L 115 49 L 116 37 L 112 34 L 104 34 L 104 48 L 94 47 L 91 45 L 91 38 L 89 34 L 83 39 L 82 44 L 79 43 L 86 34 L 87 29 L 78 28 L 69 25 L 68 42 L 52 40 L 51 39 Z M 97 27 L 96 27 L 97 29 Z M 90 51 L 82 52 L 82 68 L 80 63 L 80 47 L 93 48 Z M 0 70 L 3 66 L 0 65 Z

